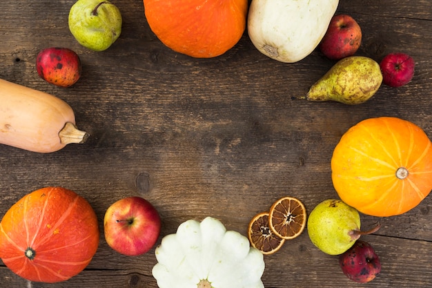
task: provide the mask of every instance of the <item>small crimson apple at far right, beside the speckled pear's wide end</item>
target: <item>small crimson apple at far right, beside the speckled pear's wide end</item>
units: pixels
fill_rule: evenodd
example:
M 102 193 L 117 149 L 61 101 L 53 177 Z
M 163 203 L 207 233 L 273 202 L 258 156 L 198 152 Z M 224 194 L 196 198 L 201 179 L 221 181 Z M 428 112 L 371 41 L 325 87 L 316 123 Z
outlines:
M 409 55 L 390 53 L 380 62 L 382 81 L 391 87 L 403 86 L 413 79 L 414 66 L 414 59 Z

